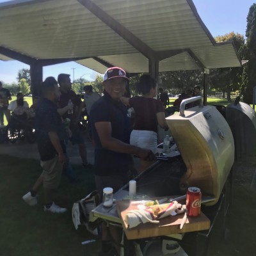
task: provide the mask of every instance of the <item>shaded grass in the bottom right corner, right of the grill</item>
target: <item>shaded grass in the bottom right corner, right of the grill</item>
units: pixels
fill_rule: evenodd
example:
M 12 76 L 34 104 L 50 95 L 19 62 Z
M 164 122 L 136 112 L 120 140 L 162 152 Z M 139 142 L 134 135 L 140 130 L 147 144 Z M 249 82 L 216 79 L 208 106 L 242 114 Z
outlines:
M 256 191 L 252 191 L 250 186 L 234 184 L 233 203 L 227 212 L 225 236 L 220 228 L 213 228 L 208 256 L 255 255 L 255 198 Z

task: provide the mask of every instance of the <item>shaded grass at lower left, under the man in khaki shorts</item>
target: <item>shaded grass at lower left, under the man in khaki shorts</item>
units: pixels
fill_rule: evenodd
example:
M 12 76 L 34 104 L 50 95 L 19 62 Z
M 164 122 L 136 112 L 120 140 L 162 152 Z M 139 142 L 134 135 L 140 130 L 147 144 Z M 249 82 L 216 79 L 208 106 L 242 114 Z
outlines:
M 22 200 L 41 173 L 39 161 L 0 156 L 0 163 L 1 256 L 95 255 L 88 248 L 96 245 L 81 245 L 94 237 L 83 228 L 76 230 L 71 214 L 72 204 L 95 189 L 92 170 L 76 167 L 78 177 L 83 180 L 79 184 L 70 184 L 62 177 L 56 202 L 68 211 L 51 214 L 43 211 L 42 191 L 36 206 Z

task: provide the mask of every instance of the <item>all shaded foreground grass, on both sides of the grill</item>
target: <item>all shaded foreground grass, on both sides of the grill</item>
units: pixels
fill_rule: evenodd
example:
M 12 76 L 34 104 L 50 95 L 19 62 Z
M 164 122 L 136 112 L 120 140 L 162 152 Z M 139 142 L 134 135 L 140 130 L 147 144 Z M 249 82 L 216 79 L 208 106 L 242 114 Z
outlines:
M 32 207 L 22 200 L 22 195 L 41 173 L 39 161 L 0 156 L 0 255 L 2 256 L 95 256 L 99 243 L 81 245 L 86 239 L 95 239 L 84 228 L 75 230 L 72 223 L 72 204 L 94 189 L 92 170 L 76 166 L 80 184 L 69 184 L 63 177 L 58 190 L 61 206 L 67 206 L 65 214 L 51 214 L 43 211 L 42 191 L 38 205 Z M 247 160 L 246 160 L 247 161 Z M 251 162 L 255 166 L 255 161 Z M 226 239 L 221 236 L 217 225 L 212 230 L 209 256 L 254 255 L 256 241 L 254 234 L 256 191 L 250 186 L 239 184 L 243 173 L 237 172 L 234 184 L 233 204 L 228 209 Z M 253 199 L 254 198 L 254 199 Z

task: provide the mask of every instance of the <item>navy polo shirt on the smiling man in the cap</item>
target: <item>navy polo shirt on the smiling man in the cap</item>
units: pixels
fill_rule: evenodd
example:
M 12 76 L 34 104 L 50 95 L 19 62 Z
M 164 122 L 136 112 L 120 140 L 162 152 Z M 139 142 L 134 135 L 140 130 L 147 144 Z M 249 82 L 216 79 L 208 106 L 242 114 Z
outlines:
M 122 102 L 113 100 L 105 92 L 105 95 L 93 104 L 90 118 L 92 118 L 92 134 L 95 140 L 94 173 L 100 176 L 127 173 L 131 156 L 103 148 L 94 125 L 96 122 L 111 122 L 111 136 L 129 144 L 131 126 L 127 108 Z

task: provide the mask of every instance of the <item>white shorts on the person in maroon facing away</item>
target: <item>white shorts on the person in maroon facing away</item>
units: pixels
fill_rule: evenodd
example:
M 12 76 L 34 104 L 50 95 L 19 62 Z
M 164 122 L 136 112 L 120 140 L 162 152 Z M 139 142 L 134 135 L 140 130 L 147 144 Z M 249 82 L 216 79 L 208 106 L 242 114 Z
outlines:
M 153 131 L 132 130 L 130 144 L 140 148 L 157 152 L 157 133 Z

